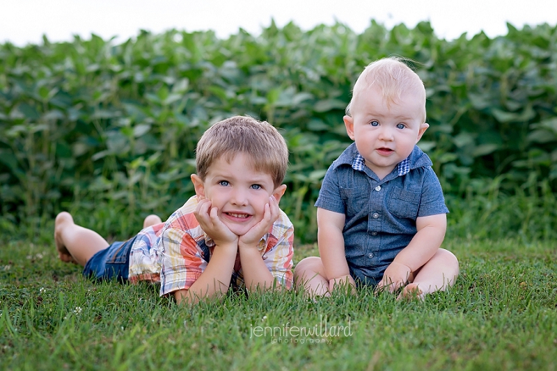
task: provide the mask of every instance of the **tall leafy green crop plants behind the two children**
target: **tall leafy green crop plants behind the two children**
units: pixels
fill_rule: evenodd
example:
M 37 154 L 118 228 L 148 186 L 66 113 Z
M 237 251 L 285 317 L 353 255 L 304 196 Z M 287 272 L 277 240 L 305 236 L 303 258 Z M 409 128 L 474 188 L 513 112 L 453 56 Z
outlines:
M 211 31 L 142 31 L 120 45 L 96 35 L 0 45 L 0 225 L 40 226 L 79 210 L 104 235 L 130 235 L 146 214 L 166 217 L 192 194 L 203 131 L 248 114 L 288 141 L 281 205 L 297 238 L 313 241 L 320 182 L 350 143 L 342 117 L 352 84 L 365 65 L 392 54 L 415 61 L 425 82 L 431 126 L 420 145 L 453 211 L 481 199 L 471 184 L 494 178 L 503 198 L 555 204 L 556 27 L 509 24 L 498 38 L 447 41 L 427 22 L 389 30 L 372 21 L 361 34 L 343 24 L 271 24 L 260 36 L 226 40 Z M 556 219 L 547 223 L 551 232 L 541 235 L 555 237 Z

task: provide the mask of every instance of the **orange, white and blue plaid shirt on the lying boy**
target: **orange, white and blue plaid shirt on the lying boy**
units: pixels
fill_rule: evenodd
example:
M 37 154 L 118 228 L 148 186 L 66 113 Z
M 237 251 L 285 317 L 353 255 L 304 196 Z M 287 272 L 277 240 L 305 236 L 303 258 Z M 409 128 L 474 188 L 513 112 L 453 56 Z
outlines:
M 130 252 L 130 282 L 160 282 L 160 294 L 187 290 L 201 276 L 209 262 L 214 242 L 199 226 L 194 215 L 196 196 L 176 210 L 166 223 L 141 230 Z M 278 283 L 292 287 L 292 248 L 294 227 L 281 210 L 258 250 Z M 240 254 L 237 254 L 230 282 L 244 285 Z

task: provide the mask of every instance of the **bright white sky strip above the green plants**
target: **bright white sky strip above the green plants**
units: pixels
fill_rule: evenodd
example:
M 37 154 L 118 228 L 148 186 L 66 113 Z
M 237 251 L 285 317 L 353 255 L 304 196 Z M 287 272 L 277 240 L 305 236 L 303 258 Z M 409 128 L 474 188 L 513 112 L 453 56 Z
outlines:
M 38 43 L 42 34 L 51 41 L 72 40 L 72 35 L 116 42 L 168 29 L 214 30 L 221 38 L 240 27 L 258 35 L 274 18 L 278 26 L 293 21 L 302 29 L 343 22 L 361 33 L 370 19 L 413 28 L 429 20 L 441 38 L 453 39 L 481 30 L 489 37 L 507 33 L 506 22 L 557 24 L 556 0 L 0 0 L 0 42 Z

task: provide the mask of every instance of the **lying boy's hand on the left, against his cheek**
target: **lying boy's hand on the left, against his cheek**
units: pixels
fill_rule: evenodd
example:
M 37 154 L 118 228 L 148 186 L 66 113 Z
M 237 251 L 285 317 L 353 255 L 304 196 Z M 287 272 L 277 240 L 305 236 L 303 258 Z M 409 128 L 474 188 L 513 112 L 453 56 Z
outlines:
M 207 198 L 199 201 L 194 215 L 196 216 L 201 229 L 217 246 L 235 245 L 237 246 L 238 236 L 235 235 L 224 223 L 219 219 L 217 207 L 211 207 L 211 201 Z

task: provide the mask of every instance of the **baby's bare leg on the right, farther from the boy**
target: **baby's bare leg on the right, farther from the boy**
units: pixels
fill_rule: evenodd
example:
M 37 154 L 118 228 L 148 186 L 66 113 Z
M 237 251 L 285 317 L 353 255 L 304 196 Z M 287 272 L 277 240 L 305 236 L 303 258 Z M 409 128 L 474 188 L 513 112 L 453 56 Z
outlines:
M 446 290 L 455 284 L 458 260 L 450 251 L 439 248 L 437 253 L 421 267 L 400 293 L 400 297 L 421 297 L 437 290 Z M 400 299 L 399 297 L 399 299 Z

